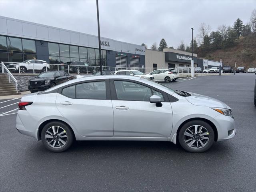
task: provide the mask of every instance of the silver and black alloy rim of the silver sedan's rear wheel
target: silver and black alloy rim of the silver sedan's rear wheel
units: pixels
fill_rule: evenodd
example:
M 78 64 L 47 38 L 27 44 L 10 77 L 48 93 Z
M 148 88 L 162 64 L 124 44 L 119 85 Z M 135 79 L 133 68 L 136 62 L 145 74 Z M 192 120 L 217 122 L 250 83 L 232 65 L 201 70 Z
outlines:
M 62 127 L 52 126 L 46 131 L 45 140 L 52 148 L 62 148 L 68 140 L 68 135 Z

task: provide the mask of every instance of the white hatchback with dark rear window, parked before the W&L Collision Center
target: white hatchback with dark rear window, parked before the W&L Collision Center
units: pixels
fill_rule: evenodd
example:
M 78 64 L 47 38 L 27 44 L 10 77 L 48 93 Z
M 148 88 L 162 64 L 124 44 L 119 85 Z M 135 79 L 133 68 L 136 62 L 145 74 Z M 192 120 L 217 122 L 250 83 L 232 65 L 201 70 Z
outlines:
M 154 76 L 154 81 L 171 82 L 179 78 L 179 74 L 176 72 L 175 68 L 154 70 L 150 72 L 149 75 Z

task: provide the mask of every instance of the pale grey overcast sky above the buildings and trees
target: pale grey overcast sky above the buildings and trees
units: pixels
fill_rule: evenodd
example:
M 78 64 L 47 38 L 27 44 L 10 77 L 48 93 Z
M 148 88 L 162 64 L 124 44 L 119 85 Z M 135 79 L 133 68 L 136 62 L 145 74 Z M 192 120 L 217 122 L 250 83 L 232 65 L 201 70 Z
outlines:
M 240 1 L 109 1 L 100 0 L 100 34 L 124 42 L 150 47 L 164 38 L 168 46 L 191 41 L 202 22 L 211 30 L 232 26 L 237 18 L 248 23 L 255 0 Z M 14 1 L 0 0 L 0 15 L 49 26 L 98 35 L 96 0 Z

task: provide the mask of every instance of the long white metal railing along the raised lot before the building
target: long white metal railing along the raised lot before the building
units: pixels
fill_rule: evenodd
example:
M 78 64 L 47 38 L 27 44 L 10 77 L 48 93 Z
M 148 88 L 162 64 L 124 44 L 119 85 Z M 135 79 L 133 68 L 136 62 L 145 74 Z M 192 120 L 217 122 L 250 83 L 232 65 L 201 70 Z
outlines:
M 52 71 L 52 70 L 65 70 L 70 73 L 74 74 L 92 74 L 100 70 L 100 66 L 85 66 L 85 65 L 67 65 L 67 64 L 21 64 L 15 62 L 2 62 L 6 64 L 6 67 L 9 69 L 10 72 L 13 73 L 36 73 L 36 72 L 44 72 L 44 71 Z M 168 67 L 162 68 L 141 68 L 141 67 L 111 67 L 111 66 L 102 66 L 102 70 L 138 70 L 144 74 L 149 74 L 154 70 L 166 69 Z M 185 75 L 191 73 L 191 67 L 176 67 L 174 68 L 178 74 Z

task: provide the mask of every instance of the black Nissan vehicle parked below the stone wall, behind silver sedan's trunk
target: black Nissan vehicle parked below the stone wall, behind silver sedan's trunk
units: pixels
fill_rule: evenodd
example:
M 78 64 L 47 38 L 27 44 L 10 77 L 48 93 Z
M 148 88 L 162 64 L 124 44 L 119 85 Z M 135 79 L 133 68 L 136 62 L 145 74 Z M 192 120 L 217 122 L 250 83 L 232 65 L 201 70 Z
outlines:
M 50 87 L 76 79 L 75 75 L 69 75 L 66 71 L 43 72 L 34 79 L 28 81 L 30 92 L 44 91 Z

